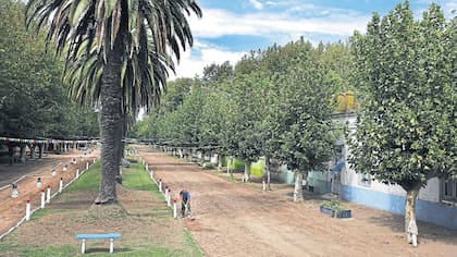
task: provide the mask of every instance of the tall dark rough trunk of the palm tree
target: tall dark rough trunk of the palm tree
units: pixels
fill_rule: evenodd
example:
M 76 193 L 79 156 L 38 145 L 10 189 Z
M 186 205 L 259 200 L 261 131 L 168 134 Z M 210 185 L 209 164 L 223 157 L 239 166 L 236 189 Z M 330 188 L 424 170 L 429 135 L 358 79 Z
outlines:
M 107 63 L 101 74 L 101 179 L 96 204 L 116 204 L 115 176 L 119 172 L 119 150 L 121 143 L 121 56 L 123 50 L 123 29 L 118 34 L 112 50 L 107 50 Z

